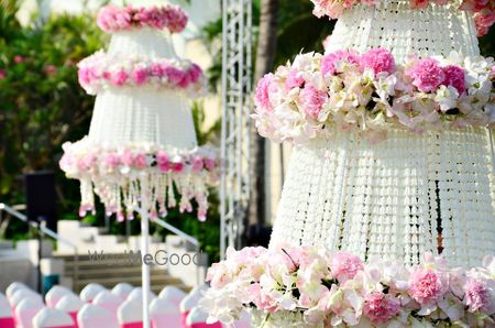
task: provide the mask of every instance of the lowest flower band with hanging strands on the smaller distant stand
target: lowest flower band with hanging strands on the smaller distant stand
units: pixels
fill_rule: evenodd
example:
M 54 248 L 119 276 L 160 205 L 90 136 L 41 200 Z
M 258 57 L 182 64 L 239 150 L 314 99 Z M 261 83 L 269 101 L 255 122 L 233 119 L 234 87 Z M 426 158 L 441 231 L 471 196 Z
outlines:
M 95 211 L 94 193 L 106 206 L 109 215 L 117 214 L 120 221 L 133 218 L 141 195 L 148 195 L 151 217 L 165 217 L 167 208 L 177 205 L 180 211 L 191 211 L 191 200 L 198 204 L 198 218 L 206 219 L 208 185 L 219 179 L 220 160 L 208 146 L 186 151 L 162 147 L 151 143 L 108 146 L 91 143 L 87 138 L 63 145 L 61 168 L 67 177 L 81 184 L 79 215 Z M 148 190 L 142 190 L 142 179 Z

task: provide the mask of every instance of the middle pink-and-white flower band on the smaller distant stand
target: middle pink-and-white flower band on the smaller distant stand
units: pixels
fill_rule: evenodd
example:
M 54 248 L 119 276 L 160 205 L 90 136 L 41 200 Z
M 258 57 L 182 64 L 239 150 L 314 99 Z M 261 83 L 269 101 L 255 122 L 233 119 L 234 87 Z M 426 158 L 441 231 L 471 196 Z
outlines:
M 78 65 L 79 84 L 89 95 L 109 87 L 152 85 L 184 90 L 190 97 L 206 92 L 202 69 L 187 59 L 148 59 L 140 55 L 124 56 L 99 51 Z

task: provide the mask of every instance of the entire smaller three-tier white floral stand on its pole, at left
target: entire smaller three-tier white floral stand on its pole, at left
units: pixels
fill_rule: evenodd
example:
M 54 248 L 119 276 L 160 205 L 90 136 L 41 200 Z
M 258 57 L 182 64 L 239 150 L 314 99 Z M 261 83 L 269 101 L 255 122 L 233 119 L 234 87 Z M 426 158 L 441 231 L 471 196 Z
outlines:
M 79 81 L 97 95 L 89 134 L 64 144 L 61 167 L 80 181 L 81 216 L 95 212 L 95 194 L 119 221 L 141 217 L 141 251 L 148 221 L 178 207 L 205 220 L 208 185 L 218 179 L 217 152 L 197 145 L 188 100 L 205 94 L 206 78 L 175 54 L 170 34 L 187 15 L 176 6 L 117 8 L 98 14 L 112 33 L 108 52 L 78 64 Z M 143 259 L 144 260 L 144 259 Z M 150 327 L 150 267 L 143 261 L 143 324 Z

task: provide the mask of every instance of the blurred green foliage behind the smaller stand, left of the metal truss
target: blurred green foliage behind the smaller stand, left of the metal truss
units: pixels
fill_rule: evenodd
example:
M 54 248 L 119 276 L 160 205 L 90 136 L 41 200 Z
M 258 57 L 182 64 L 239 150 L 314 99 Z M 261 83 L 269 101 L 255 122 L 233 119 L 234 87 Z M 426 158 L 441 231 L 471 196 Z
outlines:
M 19 25 L 13 0 L 0 2 L 0 201 L 24 203 L 22 174 L 52 170 L 56 174 L 61 219 L 79 219 L 79 183 L 67 179 L 58 168 L 62 144 L 87 134 L 95 97 L 86 95 L 77 80 L 77 63 L 105 47 L 108 35 L 101 33 L 90 15 L 56 15 L 31 28 Z M 217 122 L 202 132 L 205 109 L 193 108 L 200 144 L 218 142 Z M 207 222 L 196 212 L 170 210 L 166 220 L 196 236 L 210 259 L 219 256 L 218 196 L 211 190 Z M 105 226 L 103 208 L 82 221 Z M 151 232 L 164 238 L 168 232 L 151 225 Z M 111 218 L 110 233 L 124 234 L 125 225 Z M 131 221 L 131 233 L 140 233 L 139 219 Z M 3 238 L 33 237 L 26 225 L 10 220 Z

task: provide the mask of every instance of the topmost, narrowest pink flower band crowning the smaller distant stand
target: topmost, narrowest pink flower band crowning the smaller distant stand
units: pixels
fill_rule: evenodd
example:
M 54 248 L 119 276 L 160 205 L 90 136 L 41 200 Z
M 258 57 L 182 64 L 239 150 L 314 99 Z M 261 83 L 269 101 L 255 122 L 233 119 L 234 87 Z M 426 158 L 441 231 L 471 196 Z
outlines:
M 128 31 L 131 29 L 153 28 L 168 29 L 170 33 L 179 33 L 187 25 L 187 14 L 178 6 L 154 6 L 119 8 L 106 6 L 98 12 L 98 26 L 105 32 Z

